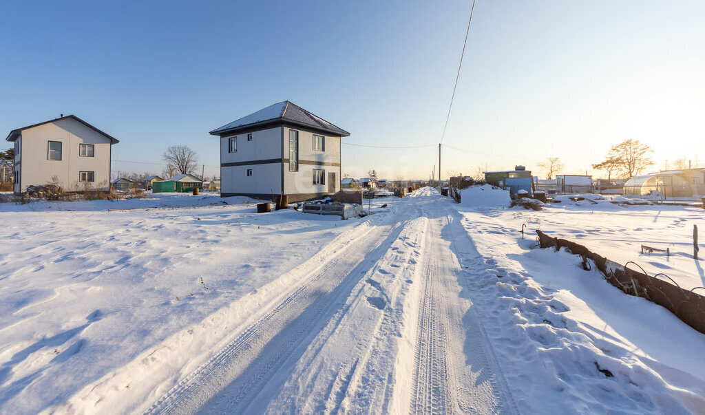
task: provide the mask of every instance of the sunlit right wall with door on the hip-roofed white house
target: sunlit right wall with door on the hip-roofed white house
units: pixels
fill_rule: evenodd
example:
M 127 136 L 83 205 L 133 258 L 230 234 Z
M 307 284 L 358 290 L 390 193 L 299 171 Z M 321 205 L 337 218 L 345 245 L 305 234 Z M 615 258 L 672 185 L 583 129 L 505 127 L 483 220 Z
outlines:
M 335 192 L 341 190 L 341 137 L 323 135 L 301 128 L 284 128 L 284 158 L 289 158 L 289 130 L 299 132 L 299 170 L 289 171 L 288 163 L 284 166 L 284 192 L 286 194 L 321 194 L 329 193 L 329 173 L 336 173 Z M 325 151 L 313 149 L 313 136 L 326 137 Z M 336 163 L 338 166 L 312 165 L 305 161 Z M 326 171 L 326 184 L 313 184 L 313 170 L 321 168 Z

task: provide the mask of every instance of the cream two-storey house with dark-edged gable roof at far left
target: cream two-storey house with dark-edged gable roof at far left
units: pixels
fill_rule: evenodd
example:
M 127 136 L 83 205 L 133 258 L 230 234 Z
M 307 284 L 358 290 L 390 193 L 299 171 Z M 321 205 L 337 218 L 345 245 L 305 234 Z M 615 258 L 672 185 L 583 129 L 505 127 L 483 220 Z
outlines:
M 6 140 L 15 144 L 15 194 L 54 179 L 69 192 L 110 187 L 111 146 L 118 140 L 77 116 L 17 128 Z

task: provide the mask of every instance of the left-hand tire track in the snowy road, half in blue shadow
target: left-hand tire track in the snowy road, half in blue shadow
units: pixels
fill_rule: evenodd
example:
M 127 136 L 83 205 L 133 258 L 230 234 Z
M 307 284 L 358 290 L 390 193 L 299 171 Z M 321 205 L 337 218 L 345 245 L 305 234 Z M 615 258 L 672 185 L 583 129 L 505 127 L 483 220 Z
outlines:
M 288 360 L 296 359 L 331 308 L 345 298 L 364 270 L 397 239 L 403 226 L 376 226 L 372 235 L 350 244 L 328 261 L 305 285 L 290 293 L 243 331 L 210 361 L 161 397 L 147 413 L 246 411 L 266 381 Z M 353 252 L 369 252 L 360 257 Z M 261 402 L 260 402 L 261 403 Z

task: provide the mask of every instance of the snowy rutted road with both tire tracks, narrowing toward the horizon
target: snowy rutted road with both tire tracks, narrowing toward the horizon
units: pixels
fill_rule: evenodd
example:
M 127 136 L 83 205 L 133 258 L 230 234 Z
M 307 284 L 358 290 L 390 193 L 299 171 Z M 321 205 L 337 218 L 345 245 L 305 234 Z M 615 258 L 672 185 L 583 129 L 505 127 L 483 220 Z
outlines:
M 430 190 L 417 199 L 302 276 L 302 285 L 266 306 L 255 323 L 147 412 L 394 408 L 445 414 L 511 408 L 486 359 L 487 339 L 465 347 L 462 316 L 470 302 L 459 296 L 460 266 L 441 237 L 444 230 L 450 233 L 448 209 Z M 405 302 L 415 311 L 409 321 L 403 318 Z M 399 336 L 405 324 L 415 326 L 412 337 Z M 345 334 L 356 338 L 357 347 L 341 353 Z M 393 364 L 398 342 L 413 346 L 413 358 Z

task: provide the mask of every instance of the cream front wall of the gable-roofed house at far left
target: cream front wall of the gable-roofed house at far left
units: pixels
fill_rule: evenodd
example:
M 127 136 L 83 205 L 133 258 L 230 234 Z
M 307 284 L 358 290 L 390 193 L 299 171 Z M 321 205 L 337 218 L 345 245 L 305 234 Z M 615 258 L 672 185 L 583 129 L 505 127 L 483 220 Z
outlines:
M 53 176 L 66 190 L 81 190 L 80 171 L 94 172 L 92 187 L 107 189 L 110 182 L 110 139 L 79 123 L 63 118 L 22 131 L 20 180 L 24 192 L 28 185 L 44 185 Z M 61 161 L 48 160 L 49 141 L 61 142 Z M 79 144 L 94 144 L 93 157 L 81 157 Z

